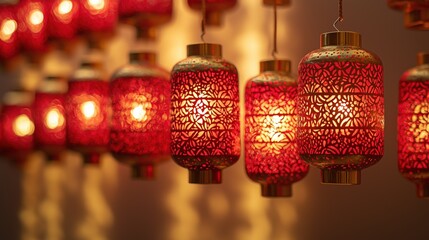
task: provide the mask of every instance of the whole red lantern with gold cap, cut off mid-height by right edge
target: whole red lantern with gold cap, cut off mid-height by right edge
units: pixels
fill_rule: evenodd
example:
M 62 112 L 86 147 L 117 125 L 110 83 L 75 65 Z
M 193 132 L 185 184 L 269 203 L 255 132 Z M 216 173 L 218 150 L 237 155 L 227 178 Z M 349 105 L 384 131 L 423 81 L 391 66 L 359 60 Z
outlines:
M 398 167 L 417 185 L 418 197 L 429 197 L 429 54 L 418 55 L 418 66 L 399 82 Z

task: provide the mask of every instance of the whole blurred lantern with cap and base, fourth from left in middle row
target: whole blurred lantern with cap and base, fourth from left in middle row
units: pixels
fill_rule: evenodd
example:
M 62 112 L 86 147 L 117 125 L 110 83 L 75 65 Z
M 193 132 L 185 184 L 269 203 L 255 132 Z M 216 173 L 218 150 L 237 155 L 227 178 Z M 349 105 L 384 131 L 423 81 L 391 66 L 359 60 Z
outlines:
M 131 53 L 130 62 L 110 84 L 110 151 L 134 177 L 151 179 L 154 165 L 170 158 L 170 76 L 153 53 Z

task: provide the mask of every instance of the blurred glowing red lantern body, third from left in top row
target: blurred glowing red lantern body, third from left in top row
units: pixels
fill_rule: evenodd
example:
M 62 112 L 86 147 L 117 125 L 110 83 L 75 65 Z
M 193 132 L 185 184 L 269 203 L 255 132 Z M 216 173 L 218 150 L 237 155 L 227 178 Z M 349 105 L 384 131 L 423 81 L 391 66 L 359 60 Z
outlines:
M 78 0 L 51 0 L 48 6 L 48 32 L 54 38 L 72 38 L 78 27 Z

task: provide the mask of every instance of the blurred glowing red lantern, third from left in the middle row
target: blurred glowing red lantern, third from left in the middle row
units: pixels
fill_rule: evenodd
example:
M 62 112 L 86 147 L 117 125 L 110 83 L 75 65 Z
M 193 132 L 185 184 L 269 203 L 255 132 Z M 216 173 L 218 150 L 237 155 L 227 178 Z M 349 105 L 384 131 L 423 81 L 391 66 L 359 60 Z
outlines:
M 98 63 L 84 62 L 69 81 L 66 95 L 67 145 L 98 164 L 109 144 L 109 83 Z

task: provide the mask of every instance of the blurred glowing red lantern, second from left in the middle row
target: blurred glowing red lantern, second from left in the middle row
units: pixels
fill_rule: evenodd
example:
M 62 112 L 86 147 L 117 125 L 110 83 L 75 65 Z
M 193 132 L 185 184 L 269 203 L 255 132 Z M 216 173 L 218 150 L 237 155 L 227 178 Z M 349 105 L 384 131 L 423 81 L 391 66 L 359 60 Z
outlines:
M 47 77 L 36 91 L 33 106 L 34 141 L 49 160 L 59 160 L 66 148 L 64 101 L 67 85 L 60 77 Z

